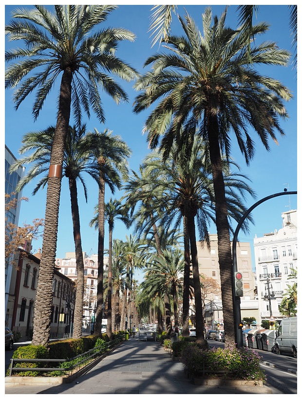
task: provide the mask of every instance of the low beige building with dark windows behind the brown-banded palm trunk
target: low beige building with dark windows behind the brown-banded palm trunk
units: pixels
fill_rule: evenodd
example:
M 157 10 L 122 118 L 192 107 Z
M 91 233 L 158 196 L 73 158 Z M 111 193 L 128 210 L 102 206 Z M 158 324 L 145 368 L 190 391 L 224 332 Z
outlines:
M 19 332 L 23 338 L 32 339 L 33 320 L 40 254 L 19 250 L 15 254 L 18 267 L 12 269 L 5 326 Z M 75 308 L 75 283 L 54 270 L 53 304 L 51 313 L 50 338 L 63 338 L 72 332 Z

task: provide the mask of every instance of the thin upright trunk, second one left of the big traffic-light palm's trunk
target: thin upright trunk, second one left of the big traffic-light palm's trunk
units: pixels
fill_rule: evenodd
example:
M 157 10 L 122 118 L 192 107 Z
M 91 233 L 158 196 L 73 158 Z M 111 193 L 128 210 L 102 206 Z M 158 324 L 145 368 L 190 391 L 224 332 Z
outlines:
M 189 279 L 190 279 L 190 242 L 188 233 L 188 220 L 183 216 L 184 226 L 184 248 L 185 248 L 185 268 L 184 268 L 184 289 L 183 289 L 183 320 L 182 320 L 182 335 L 189 337 Z

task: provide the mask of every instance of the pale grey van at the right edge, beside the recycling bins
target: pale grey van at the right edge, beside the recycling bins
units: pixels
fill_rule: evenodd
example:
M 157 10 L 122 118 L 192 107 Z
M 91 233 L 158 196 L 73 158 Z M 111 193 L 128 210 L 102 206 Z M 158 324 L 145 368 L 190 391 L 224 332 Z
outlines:
M 297 317 L 282 319 L 275 339 L 276 353 L 292 353 L 297 358 Z

